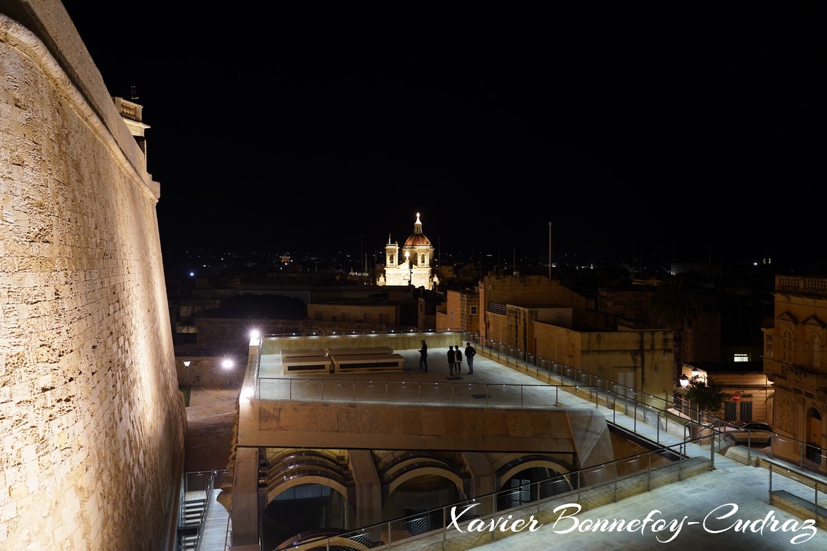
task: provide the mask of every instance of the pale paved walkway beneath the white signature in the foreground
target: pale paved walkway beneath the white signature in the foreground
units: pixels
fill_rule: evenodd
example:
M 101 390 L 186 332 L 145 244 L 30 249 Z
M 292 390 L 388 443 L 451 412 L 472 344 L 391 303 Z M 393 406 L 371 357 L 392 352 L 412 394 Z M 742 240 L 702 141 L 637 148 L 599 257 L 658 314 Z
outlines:
M 557 520 L 557 524 L 548 523 L 534 532 L 524 531 L 476 549 L 825 549 L 824 530 L 805 528 L 801 518 L 769 505 L 768 485 L 769 472 L 765 468 L 719 468 L 586 511 L 577 516 L 577 524 L 570 519 Z M 724 515 L 729 516 L 719 518 Z M 665 520 L 667 528 L 654 532 L 650 523 L 646 529 L 635 531 L 586 530 L 590 523 L 595 525 L 600 520 L 628 523 L 648 517 Z

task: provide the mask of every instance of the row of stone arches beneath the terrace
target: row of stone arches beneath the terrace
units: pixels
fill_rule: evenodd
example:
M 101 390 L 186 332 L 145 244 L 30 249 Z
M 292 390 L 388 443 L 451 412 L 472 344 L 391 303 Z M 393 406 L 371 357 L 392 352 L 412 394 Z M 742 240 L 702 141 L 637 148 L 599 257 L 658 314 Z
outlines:
M 616 458 L 648 451 L 609 431 Z M 280 549 L 313 537 L 364 526 L 357 520 L 356 477 L 347 449 L 261 449 L 259 486 L 266 496 L 262 549 Z M 381 520 L 404 522 L 410 534 L 442 525 L 439 509 L 475 496 L 467 462 L 484 460 L 495 480 L 498 510 L 573 489 L 570 454 L 505 454 L 373 450 L 380 484 Z M 477 457 L 473 457 L 477 456 Z M 479 463 L 478 463 L 479 464 Z M 539 483 L 538 482 L 542 482 Z M 505 492 L 507 490 L 512 492 Z M 436 512 L 434 513 L 433 511 Z

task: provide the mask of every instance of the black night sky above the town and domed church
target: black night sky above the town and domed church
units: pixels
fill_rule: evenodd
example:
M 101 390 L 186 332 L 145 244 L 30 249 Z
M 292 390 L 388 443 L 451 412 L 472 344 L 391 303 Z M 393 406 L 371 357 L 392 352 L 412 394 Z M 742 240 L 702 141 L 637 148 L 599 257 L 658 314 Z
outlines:
M 545 258 L 552 221 L 555 259 L 825 253 L 819 2 L 65 6 L 136 86 L 165 251 L 369 251 L 420 212 L 453 252 Z

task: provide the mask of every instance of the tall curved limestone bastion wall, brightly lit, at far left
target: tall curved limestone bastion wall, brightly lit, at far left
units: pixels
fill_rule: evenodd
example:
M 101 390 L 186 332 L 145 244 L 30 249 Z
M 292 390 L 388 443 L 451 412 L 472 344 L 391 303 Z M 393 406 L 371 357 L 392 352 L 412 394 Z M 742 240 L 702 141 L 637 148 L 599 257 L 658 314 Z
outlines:
M 167 549 L 159 187 L 60 2 L 0 9 L 0 549 Z

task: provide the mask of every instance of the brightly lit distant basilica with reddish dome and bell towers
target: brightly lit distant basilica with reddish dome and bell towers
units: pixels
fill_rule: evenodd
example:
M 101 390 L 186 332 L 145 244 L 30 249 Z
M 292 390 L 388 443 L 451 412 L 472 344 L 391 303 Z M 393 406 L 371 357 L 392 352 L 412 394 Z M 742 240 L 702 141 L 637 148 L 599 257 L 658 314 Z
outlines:
M 402 248 L 399 242 L 391 241 L 385 245 L 385 269 L 376 279 L 378 285 L 413 285 L 428 290 L 436 288 L 439 280 L 433 273 L 433 245 L 422 232 L 419 213 L 414 222 L 414 233 L 405 240 Z

